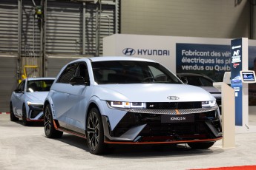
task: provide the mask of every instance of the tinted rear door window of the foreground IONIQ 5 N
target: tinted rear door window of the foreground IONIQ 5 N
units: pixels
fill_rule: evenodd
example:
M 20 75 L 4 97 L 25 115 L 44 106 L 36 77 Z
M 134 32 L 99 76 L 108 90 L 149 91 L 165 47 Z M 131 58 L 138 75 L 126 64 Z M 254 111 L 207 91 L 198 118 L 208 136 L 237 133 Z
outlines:
M 59 76 L 59 79 L 57 82 L 62 83 L 62 84 L 69 84 L 70 79 L 73 78 L 73 75 L 76 72 L 77 65 L 78 65 L 78 63 L 69 64 L 64 69 L 62 74 Z

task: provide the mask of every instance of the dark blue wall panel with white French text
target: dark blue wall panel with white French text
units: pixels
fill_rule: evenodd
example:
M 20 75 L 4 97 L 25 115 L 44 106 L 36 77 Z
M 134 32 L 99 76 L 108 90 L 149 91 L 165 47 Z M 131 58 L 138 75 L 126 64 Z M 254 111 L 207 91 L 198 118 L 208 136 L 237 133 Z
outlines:
M 199 73 L 221 82 L 231 69 L 229 45 L 177 43 L 176 56 L 177 73 Z

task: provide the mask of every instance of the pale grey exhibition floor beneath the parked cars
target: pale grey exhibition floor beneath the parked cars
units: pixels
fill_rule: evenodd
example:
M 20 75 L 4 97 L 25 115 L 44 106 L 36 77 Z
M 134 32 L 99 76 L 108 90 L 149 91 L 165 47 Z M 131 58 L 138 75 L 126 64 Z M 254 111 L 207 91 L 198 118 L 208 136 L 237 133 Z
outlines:
M 249 126 L 256 115 L 249 115 Z M 65 134 L 48 139 L 42 125 L 23 126 L 0 115 L 0 169 L 209 169 L 256 166 L 256 132 L 235 134 L 235 147 L 223 149 L 222 140 L 206 150 L 186 144 L 116 146 L 110 154 L 88 152 L 85 139 Z M 232 170 L 231 168 L 229 170 Z

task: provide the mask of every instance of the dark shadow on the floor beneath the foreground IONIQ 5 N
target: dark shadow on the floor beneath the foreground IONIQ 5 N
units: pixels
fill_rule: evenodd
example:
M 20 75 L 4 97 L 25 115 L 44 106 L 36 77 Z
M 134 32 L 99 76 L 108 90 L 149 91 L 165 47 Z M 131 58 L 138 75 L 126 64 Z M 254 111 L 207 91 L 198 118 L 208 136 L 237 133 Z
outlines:
M 62 138 L 56 139 L 70 146 L 88 152 L 87 140 L 82 137 L 64 134 Z M 132 157 L 183 157 L 198 156 L 208 154 L 220 154 L 223 149 L 211 146 L 210 149 L 191 149 L 187 144 L 169 144 L 169 145 L 107 145 L 107 152 L 102 154 L 103 157 L 110 158 L 132 158 Z

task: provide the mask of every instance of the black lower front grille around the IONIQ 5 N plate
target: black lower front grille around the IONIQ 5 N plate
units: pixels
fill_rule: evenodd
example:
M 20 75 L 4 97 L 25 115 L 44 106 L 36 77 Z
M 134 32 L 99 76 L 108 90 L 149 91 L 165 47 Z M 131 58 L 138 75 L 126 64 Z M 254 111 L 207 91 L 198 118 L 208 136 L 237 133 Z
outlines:
M 162 123 L 161 117 L 163 115 L 128 112 L 118 123 L 112 135 L 119 137 L 127 132 L 128 129 L 131 129 L 131 127 L 142 124 L 147 124 L 140 133 L 142 136 L 201 134 L 209 133 L 209 129 L 205 123 L 206 121 L 220 122 L 217 111 L 201 112 L 192 115 L 194 116 L 193 123 Z M 213 124 L 215 129 L 221 130 L 220 123 Z

